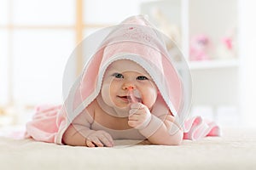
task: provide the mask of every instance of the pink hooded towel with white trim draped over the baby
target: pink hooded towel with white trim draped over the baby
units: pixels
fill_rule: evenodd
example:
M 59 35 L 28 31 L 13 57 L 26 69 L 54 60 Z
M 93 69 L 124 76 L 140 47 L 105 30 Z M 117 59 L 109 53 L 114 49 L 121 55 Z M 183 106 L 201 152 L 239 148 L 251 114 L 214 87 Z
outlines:
M 82 42 L 73 58 L 81 49 L 84 71 L 74 82 L 64 75 L 64 83 L 72 82 L 71 88 L 63 84 L 64 90 L 67 89 L 64 104 L 39 106 L 32 121 L 26 124 L 26 138 L 62 144 L 63 133 L 74 118 L 96 99 L 104 72 L 118 59 L 131 59 L 148 72 L 162 102 L 183 128 L 183 139 L 219 135 L 219 128 L 214 122 L 207 122 L 200 116 L 189 118 L 191 79 L 188 65 L 175 43 L 154 29 L 143 16 L 134 16 L 119 26 L 97 31 Z

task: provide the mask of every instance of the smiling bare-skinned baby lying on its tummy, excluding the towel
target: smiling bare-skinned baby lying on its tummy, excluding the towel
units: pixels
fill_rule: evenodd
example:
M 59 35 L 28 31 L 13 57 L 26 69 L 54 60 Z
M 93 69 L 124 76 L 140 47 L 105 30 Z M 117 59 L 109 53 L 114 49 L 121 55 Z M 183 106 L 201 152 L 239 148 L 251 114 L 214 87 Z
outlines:
M 142 66 L 130 59 L 114 61 L 104 74 L 101 93 L 67 128 L 63 142 L 89 147 L 113 146 L 113 139 L 180 144 L 183 132 L 167 106 L 160 105 L 158 93 Z

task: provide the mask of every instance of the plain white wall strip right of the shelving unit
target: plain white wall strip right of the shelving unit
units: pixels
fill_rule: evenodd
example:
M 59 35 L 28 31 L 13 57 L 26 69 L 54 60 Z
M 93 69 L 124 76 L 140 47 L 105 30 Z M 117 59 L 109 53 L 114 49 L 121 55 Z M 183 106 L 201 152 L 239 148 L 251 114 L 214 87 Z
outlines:
M 240 0 L 240 99 L 243 125 L 256 127 L 256 1 Z

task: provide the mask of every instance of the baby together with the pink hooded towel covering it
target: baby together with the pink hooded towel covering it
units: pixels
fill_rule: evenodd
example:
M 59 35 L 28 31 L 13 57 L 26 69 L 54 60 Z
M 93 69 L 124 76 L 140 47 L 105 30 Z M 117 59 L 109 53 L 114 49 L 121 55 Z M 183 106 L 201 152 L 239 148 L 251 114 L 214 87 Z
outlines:
M 167 49 L 166 42 L 175 47 L 143 16 L 85 39 L 73 54 L 85 52 L 82 74 L 68 88 L 63 105 L 38 107 L 26 124 L 26 138 L 110 147 L 115 139 L 171 145 L 218 135 L 214 123 L 187 119 L 188 66 L 178 48 Z

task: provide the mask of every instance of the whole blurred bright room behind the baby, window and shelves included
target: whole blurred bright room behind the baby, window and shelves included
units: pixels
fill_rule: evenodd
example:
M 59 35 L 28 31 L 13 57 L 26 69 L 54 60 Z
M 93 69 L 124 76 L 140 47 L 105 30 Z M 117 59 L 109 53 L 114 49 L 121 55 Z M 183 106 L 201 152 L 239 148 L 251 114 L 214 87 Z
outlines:
M 24 125 L 36 105 L 61 104 L 73 49 L 136 14 L 147 14 L 187 59 L 192 116 L 255 127 L 255 8 L 253 0 L 0 0 L 0 128 Z M 74 65 L 76 77 L 81 60 Z

